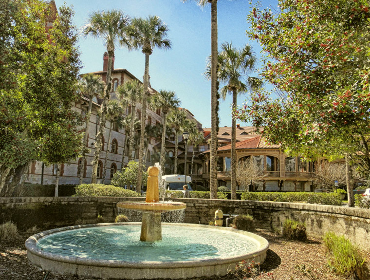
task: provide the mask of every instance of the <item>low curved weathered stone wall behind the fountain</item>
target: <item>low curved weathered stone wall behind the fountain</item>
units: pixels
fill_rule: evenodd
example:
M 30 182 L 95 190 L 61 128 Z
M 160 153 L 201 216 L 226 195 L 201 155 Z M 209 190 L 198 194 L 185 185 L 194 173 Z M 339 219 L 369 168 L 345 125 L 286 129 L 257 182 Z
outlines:
M 101 215 L 114 221 L 119 201 L 140 201 L 133 197 L 11 197 L 0 198 L 0 223 L 13 221 L 20 229 L 73 225 L 76 220 L 94 222 Z M 208 224 L 214 213 L 251 214 L 257 228 L 280 228 L 285 219 L 306 223 L 311 236 L 321 237 L 327 231 L 343 234 L 351 241 L 366 245 L 370 238 L 370 210 L 331 205 L 282 202 L 258 202 L 210 199 L 171 199 L 185 202 L 185 223 Z M 368 249 L 369 248 L 365 248 Z

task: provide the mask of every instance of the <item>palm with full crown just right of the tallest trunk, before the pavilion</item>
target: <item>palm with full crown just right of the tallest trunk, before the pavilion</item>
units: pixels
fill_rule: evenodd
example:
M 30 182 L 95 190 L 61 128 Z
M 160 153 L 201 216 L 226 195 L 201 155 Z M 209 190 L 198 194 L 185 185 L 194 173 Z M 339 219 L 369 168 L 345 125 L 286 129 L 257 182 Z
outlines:
M 218 56 L 219 69 L 218 76 L 220 82 L 225 84 L 221 89 L 221 97 L 226 99 L 227 93 L 233 97 L 232 111 L 237 108 L 238 94 L 245 93 L 247 90 L 254 90 L 261 86 L 261 81 L 257 77 L 251 77 L 248 73 L 256 68 L 257 58 L 250 45 L 244 45 L 240 49 L 233 47 L 231 43 L 222 43 L 221 52 Z M 208 63 L 205 73 L 210 77 L 210 63 Z M 236 154 L 236 119 L 231 118 L 231 199 L 237 199 L 237 154 Z

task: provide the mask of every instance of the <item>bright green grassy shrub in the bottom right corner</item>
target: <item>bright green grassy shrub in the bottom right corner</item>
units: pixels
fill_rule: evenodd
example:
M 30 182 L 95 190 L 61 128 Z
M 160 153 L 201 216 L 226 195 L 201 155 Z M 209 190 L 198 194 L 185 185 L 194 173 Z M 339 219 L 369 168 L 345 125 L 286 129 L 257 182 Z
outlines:
M 348 279 L 368 279 L 365 257 L 358 246 L 333 232 L 325 234 L 324 244 L 327 249 L 328 263 L 336 273 Z

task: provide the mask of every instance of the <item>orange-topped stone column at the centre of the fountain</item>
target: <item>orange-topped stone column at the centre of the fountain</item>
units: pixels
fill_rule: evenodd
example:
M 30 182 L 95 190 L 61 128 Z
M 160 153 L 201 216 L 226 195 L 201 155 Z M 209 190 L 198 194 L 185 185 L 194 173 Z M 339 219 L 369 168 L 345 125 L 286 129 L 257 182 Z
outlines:
M 159 202 L 158 173 L 158 168 L 148 168 L 147 197 L 145 199 L 146 203 Z M 140 241 L 154 242 L 162 240 L 161 212 L 162 211 L 155 210 L 143 212 Z

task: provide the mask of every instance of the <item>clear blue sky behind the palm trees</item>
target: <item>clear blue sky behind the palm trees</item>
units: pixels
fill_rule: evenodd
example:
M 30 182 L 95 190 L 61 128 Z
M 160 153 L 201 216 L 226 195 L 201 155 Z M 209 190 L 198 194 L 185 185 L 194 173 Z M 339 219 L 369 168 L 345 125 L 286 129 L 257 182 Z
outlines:
M 151 86 L 156 90 L 173 90 L 181 99 L 181 107 L 188 109 L 203 124 L 210 127 L 210 81 L 203 77 L 206 58 L 211 49 L 210 6 L 203 9 L 188 0 L 56 0 L 59 7 L 66 2 L 73 5 L 74 22 L 80 28 L 89 13 L 103 9 L 120 9 L 130 17 L 156 15 L 166 22 L 172 48 L 164 51 L 155 49 L 149 58 Z M 261 48 L 256 41 L 249 41 L 245 30 L 249 28 L 246 16 L 248 0 L 218 1 L 218 41 L 232 42 L 234 46 L 251 44 L 257 56 Z M 275 0 L 264 0 L 263 4 L 276 5 Z M 105 48 L 101 40 L 79 39 L 79 50 L 83 69 L 81 73 L 101 71 Z M 125 68 L 137 78 L 144 75 L 144 55 L 141 51 L 117 48 L 115 68 Z M 238 104 L 245 100 L 240 96 Z M 231 97 L 220 104 L 220 126 L 231 126 Z M 246 125 L 241 123 L 241 125 Z

